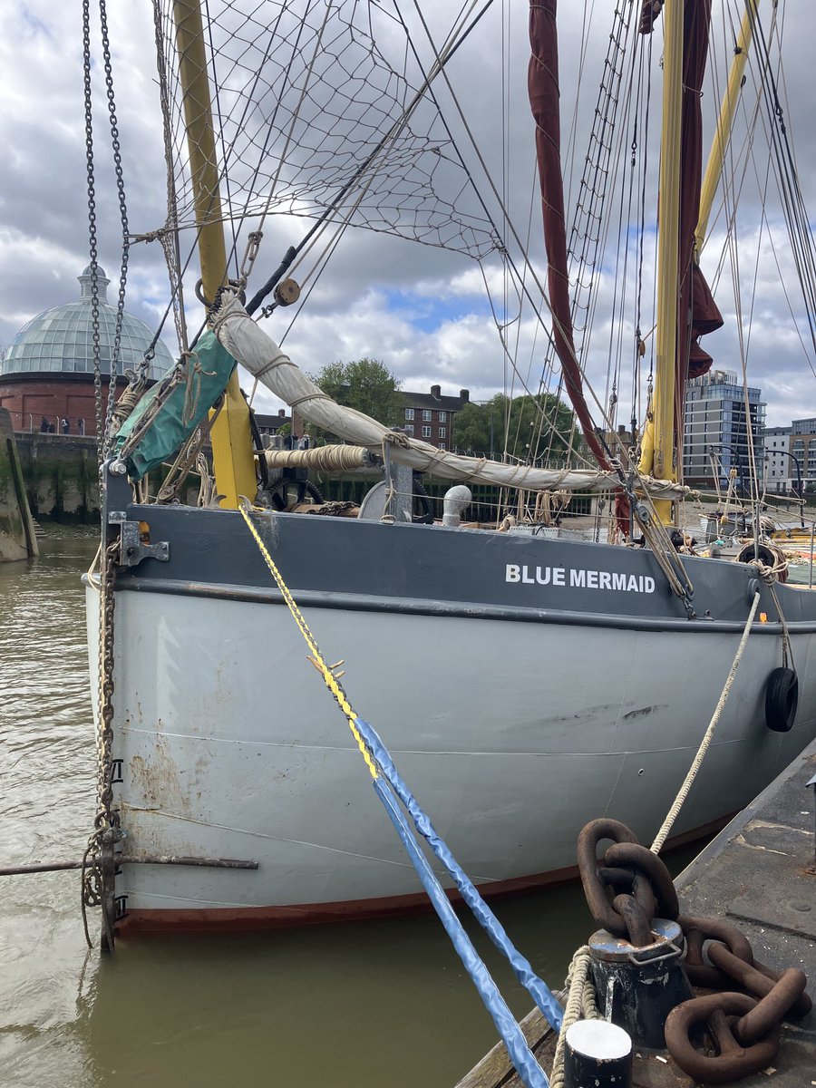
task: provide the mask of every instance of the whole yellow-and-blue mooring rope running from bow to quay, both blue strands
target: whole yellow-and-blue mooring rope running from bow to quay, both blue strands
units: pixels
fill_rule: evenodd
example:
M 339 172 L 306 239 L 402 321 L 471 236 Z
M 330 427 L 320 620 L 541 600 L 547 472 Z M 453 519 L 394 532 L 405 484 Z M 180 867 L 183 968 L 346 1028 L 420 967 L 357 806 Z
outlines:
M 410 857 L 422 886 L 433 903 L 434 910 L 438 914 L 457 954 L 462 961 L 462 964 L 470 975 L 479 996 L 491 1014 L 493 1023 L 507 1047 L 507 1051 L 519 1073 L 519 1076 L 527 1088 L 548 1088 L 548 1080 L 544 1071 L 541 1068 L 530 1051 L 516 1017 L 512 1015 L 507 1006 L 507 1003 L 499 993 L 496 984 L 493 981 L 490 972 L 479 956 L 479 953 L 473 947 L 470 938 L 465 932 L 465 929 L 457 918 L 456 913 L 450 905 L 450 901 L 440 883 L 436 874 L 433 871 L 428 858 L 422 853 L 419 842 L 417 841 L 408 819 L 406 818 L 406 813 L 400 807 L 399 802 L 401 802 L 401 805 L 410 815 L 416 830 L 429 843 L 436 858 L 444 865 L 450 875 L 459 893 L 472 911 L 477 920 L 483 927 L 496 948 L 506 956 L 514 974 L 516 975 L 516 978 L 527 989 L 546 1021 L 556 1030 L 560 1027 L 564 1015 L 560 1005 L 546 984 L 534 973 L 530 963 L 514 948 L 499 920 L 495 917 L 493 912 L 479 894 L 479 891 L 467 874 L 459 866 L 447 844 L 436 833 L 428 815 L 419 806 L 416 798 L 399 777 L 397 769 L 394 766 L 394 762 L 391 758 L 391 754 L 378 735 L 376 731 L 371 725 L 369 725 L 368 721 L 364 721 L 355 713 L 348 701 L 348 696 L 339 682 L 342 673 L 338 671 L 338 668 L 342 663 L 338 663 L 335 666 L 326 664 L 314 635 L 306 622 L 302 613 L 298 608 L 292 592 L 286 585 L 277 565 L 261 540 L 260 533 L 258 532 L 250 516 L 250 509 L 251 507 L 247 499 L 243 499 L 239 507 L 240 515 L 244 518 L 244 521 L 246 522 L 256 544 L 258 545 L 258 548 L 275 580 L 277 589 L 280 590 L 298 630 L 309 647 L 309 659 L 323 677 L 326 688 L 332 693 L 337 705 L 346 717 L 351 734 L 366 762 L 369 774 L 371 775 L 374 791 L 380 798 L 388 818 L 394 825 L 400 842 Z

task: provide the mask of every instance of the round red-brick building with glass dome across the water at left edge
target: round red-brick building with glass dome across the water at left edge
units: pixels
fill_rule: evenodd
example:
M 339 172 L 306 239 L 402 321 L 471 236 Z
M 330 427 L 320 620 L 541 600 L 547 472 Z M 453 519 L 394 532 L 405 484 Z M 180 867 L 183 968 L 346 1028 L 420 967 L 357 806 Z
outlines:
M 116 309 L 107 298 L 110 280 L 101 268 L 97 272 L 99 360 L 107 396 Z M 15 431 L 96 434 L 90 265 L 77 279 L 79 300 L 33 318 L 20 330 L 5 359 L 0 362 L 0 408 L 9 410 Z M 125 369 L 138 369 L 152 338 L 149 325 L 125 312 L 120 339 L 120 373 Z M 149 381 L 159 379 L 172 363 L 173 357 L 166 346 L 158 341 L 156 354 L 148 364 Z M 118 385 L 125 384 L 124 378 L 118 380 Z

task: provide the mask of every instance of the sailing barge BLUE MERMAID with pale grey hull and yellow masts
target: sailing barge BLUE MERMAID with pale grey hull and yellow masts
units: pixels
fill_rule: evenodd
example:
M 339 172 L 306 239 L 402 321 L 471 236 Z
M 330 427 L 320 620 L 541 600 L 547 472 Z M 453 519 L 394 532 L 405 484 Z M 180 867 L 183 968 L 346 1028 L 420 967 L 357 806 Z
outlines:
M 644 15 L 648 33 L 653 7 Z M 669 137 L 676 153 L 666 151 L 662 168 L 670 175 L 660 206 L 663 339 L 640 470 L 615 462 L 597 437 L 569 300 L 566 311 L 558 309 L 564 220 L 547 226 L 556 347 L 598 460 L 585 472 L 474 461 L 397 438 L 330 404 L 250 320 L 260 302 L 245 308 L 242 284 L 225 283 L 222 219 L 236 213 L 222 211 L 210 127 L 205 42 L 212 26 L 202 26 L 193 2 L 175 3 L 174 14 L 171 53 L 184 82 L 210 329 L 106 438 L 103 547 L 99 577 L 87 590 L 101 739 L 91 856 L 120 930 L 293 925 L 401 911 L 422 899 L 374 796 L 362 788 L 366 769 L 354 740 L 305 660 L 285 596 L 238 509 L 242 496 L 261 504 L 248 516 L 326 656 L 344 659 L 351 702 L 378 724 L 484 893 L 570 876 L 577 831 L 598 813 L 648 838 L 755 613 L 677 830 L 700 834 L 722 821 L 816 731 L 816 596 L 775 584 L 774 571 L 756 565 L 681 556 L 670 536 L 673 503 L 683 494 L 671 453 L 675 387 L 692 362 L 706 364 L 703 319 L 689 335 L 678 332 L 692 279 L 697 296 L 705 294 L 694 256 L 698 171 L 682 215 L 678 209 L 680 160 L 685 171 L 690 161 L 679 151 L 681 128 L 700 123 L 688 50 L 705 46 L 708 4 L 668 0 L 664 10 L 665 96 L 682 111 L 675 109 Z M 554 2 L 531 5 L 540 134 L 557 102 L 557 86 L 545 86 L 554 63 L 542 52 L 554 49 Z M 354 13 L 348 17 L 347 26 L 361 33 Z M 215 29 L 223 36 L 225 26 Z M 700 82 L 704 62 L 694 55 Z M 428 92 L 425 84 L 417 99 Z M 557 109 L 554 122 L 557 128 Z M 367 191 L 395 132 L 386 125 L 363 144 L 348 168 L 344 200 Z M 557 203 L 557 193 L 548 190 L 545 201 Z M 339 200 L 333 213 L 344 207 Z M 277 284 L 279 302 L 296 294 L 282 281 L 285 271 L 284 261 L 263 288 Z M 642 534 L 641 546 L 473 529 L 456 519 L 413 524 L 387 511 L 381 520 L 356 520 L 264 509 L 258 472 L 265 455 L 252 449 L 236 359 L 307 420 L 383 455 L 392 492 L 399 465 L 528 490 L 601 486 L 613 493 L 620 532 Z M 190 463 L 210 432 L 220 503 L 150 502 L 150 468 L 180 447 Z M 116 870 L 123 836 L 131 856 L 188 855 L 202 864 Z M 257 868 L 206 864 L 218 858 Z

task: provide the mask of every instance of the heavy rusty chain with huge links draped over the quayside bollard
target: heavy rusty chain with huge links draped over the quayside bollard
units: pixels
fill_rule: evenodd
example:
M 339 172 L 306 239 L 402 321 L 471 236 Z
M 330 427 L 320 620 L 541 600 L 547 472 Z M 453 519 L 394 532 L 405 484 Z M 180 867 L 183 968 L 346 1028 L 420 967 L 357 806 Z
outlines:
M 604 840 L 611 845 L 598 858 Z M 669 1014 L 666 1046 L 680 1068 L 706 1084 L 725 1084 L 766 1068 L 779 1048 L 781 1022 L 806 1016 L 813 1007 L 805 975 L 758 963 L 734 926 L 680 914 L 668 869 L 618 820 L 596 819 L 583 828 L 578 868 L 592 916 L 607 932 L 643 948 L 654 942 L 655 917 L 677 922 L 685 938 L 689 980 L 726 991 L 685 1001 Z M 734 992 L 738 989 L 747 992 Z M 714 1053 L 702 1053 L 692 1041 L 701 1025 L 707 1026 Z

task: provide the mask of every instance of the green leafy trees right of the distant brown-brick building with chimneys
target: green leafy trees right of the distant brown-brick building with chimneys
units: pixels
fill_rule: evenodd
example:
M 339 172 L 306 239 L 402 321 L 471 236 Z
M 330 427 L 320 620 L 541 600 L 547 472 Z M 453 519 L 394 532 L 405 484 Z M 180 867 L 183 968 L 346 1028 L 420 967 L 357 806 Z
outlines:
M 454 422 L 454 444 L 467 453 L 537 461 L 564 459 L 572 411 L 551 393 L 541 397 L 506 397 L 497 393 L 484 405 L 468 404 Z

